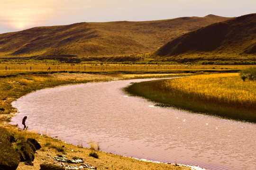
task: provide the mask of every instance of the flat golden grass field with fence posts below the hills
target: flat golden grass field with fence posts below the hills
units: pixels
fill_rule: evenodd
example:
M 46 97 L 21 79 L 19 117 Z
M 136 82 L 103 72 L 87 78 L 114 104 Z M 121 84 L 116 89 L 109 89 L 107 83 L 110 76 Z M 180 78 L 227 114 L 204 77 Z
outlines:
M 65 64 L 65 63 L 30 63 L 1 62 L 0 76 L 17 75 L 30 72 L 200 72 L 200 71 L 239 71 L 251 67 L 250 65 L 167 65 L 167 64 Z

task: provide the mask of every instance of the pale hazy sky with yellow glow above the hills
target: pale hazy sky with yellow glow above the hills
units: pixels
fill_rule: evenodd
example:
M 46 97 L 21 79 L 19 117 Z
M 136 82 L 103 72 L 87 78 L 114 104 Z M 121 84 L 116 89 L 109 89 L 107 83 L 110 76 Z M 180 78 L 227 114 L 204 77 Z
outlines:
M 149 21 L 256 13 L 256 0 L 0 0 L 0 34 L 78 22 Z

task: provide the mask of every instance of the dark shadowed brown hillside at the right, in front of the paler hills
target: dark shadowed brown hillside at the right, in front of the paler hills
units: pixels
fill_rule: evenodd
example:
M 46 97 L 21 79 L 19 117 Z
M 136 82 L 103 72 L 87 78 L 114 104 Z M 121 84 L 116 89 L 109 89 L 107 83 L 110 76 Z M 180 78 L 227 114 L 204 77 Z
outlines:
M 170 60 L 256 60 L 256 14 L 236 17 L 183 34 L 155 52 Z

